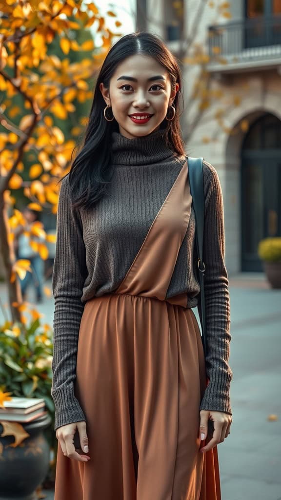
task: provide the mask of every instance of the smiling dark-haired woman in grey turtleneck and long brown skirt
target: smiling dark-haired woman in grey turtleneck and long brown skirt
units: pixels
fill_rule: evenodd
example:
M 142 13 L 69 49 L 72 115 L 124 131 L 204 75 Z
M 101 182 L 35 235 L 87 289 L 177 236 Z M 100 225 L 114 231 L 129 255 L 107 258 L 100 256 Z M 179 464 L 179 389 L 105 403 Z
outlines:
M 162 41 L 146 32 L 119 39 L 61 183 L 55 500 L 220 498 L 216 444 L 231 423 L 222 196 L 204 163 L 204 360 L 180 90 Z

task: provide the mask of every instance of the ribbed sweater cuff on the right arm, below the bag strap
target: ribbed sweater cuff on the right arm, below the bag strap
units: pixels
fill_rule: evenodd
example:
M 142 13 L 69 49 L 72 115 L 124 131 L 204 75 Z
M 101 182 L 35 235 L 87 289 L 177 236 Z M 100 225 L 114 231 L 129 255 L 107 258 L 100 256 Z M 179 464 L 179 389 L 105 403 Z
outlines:
M 231 374 L 228 373 L 225 376 L 224 384 L 221 383 L 221 380 L 217 380 L 216 377 L 213 380 L 210 378 L 200 403 L 200 410 L 222 411 L 232 415 L 229 398 L 231 378 Z

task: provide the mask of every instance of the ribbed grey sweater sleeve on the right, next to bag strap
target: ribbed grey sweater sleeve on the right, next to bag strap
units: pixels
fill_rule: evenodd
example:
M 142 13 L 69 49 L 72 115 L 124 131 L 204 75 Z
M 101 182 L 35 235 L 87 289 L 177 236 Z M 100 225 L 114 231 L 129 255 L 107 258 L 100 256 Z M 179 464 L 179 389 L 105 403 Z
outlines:
M 203 261 L 206 335 L 208 352 L 206 374 L 209 384 L 204 392 L 200 409 L 224 411 L 231 414 L 229 384 L 232 372 L 228 365 L 231 339 L 230 306 L 227 271 L 224 264 L 224 220 L 221 186 L 216 170 L 204 165 L 207 176 L 204 185 L 205 217 Z

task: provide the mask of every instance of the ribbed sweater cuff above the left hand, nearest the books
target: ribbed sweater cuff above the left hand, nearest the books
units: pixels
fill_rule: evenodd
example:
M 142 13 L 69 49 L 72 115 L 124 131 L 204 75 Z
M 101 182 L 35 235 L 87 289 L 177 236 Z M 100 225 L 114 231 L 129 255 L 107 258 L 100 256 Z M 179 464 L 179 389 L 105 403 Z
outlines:
M 84 412 L 71 387 L 51 390 L 54 402 L 54 430 L 67 423 L 86 420 Z

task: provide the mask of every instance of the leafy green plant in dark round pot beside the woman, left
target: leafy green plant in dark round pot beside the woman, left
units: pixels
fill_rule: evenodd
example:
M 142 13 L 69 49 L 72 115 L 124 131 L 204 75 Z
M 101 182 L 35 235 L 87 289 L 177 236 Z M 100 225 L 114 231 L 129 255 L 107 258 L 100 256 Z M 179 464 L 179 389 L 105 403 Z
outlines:
M 26 308 L 24 304 L 20 307 Z M 50 396 L 52 332 L 31 309 L 29 324 L 6 320 L 0 325 L 0 404 L 11 396 L 44 398 L 47 413 L 30 422 L 1 421 L 0 499 L 34 498 L 36 488 L 54 479 L 57 440 L 53 430 L 54 404 Z M 3 496 L 2 496 L 3 495 Z

